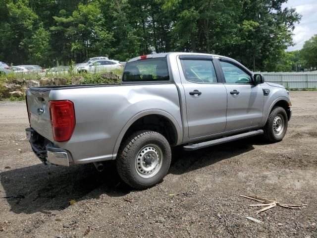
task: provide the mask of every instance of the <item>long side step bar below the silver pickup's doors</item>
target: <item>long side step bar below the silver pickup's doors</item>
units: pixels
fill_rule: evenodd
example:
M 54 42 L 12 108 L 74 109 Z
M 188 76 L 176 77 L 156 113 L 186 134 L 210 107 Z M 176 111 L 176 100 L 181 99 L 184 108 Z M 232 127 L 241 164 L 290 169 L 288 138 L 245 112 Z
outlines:
M 185 145 L 183 148 L 184 150 L 198 150 L 198 149 L 206 148 L 213 145 L 219 145 L 222 143 L 226 143 L 226 142 L 230 142 L 230 141 L 234 141 L 234 140 L 238 140 L 242 138 L 247 138 L 254 135 L 261 135 L 263 133 L 264 133 L 263 130 L 254 130 L 254 131 L 249 131 L 242 134 L 231 135 L 231 136 L 222 137 L 215 140 L 200 142 L 197 144 Z

